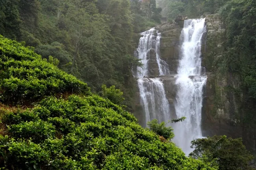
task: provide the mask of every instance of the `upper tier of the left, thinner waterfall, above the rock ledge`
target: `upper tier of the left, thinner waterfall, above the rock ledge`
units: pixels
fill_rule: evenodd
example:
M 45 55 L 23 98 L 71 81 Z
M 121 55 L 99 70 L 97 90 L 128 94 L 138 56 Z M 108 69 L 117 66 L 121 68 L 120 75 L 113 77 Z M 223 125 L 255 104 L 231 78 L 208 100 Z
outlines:
M 161 33 L 155 28 L 141 33 L 135 56 L 141 59 L 143 67 L 137 67 L 135 77 L 157 77 L 169 73 L 168 65 L 160 58 Z

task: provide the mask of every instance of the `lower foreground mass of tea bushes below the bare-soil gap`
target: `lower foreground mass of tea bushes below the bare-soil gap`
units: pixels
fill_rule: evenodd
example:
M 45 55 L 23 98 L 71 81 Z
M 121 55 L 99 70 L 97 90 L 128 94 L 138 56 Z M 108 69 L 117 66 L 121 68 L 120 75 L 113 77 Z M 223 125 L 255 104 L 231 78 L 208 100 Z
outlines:
M 24 113 L 12 113 L 17 121 L 3 122 L 9 137 L 0 137 L 1 167 L 214 169 L 188 159 L 173 142 L 161 142 L 133 115 L 96 95 L 48 97 Z M 167 132 L 165 137 L 171 137 Z

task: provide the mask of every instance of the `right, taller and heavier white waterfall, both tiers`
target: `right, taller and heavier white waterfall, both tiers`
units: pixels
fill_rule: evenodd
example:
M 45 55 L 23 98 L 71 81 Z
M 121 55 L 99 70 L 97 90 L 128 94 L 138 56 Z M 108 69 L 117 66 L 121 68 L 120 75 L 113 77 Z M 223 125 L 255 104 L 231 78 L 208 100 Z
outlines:
M 180 63 L 176 79 L 177 94 L 175 110 L 178 118 L 186 120 L 174 124 L 174 142 L 189 154 L 191 140 L 202 138 L 201 112 L 203 87 L 207 76 L 201 67 L 201 39 L 206 31 L 205 19 L 185 20 L 181 34 Z

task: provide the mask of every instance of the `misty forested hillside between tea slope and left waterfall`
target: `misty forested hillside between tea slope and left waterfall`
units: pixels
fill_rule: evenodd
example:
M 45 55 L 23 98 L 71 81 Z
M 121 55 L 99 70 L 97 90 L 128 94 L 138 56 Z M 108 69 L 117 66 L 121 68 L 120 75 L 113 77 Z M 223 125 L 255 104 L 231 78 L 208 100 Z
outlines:
M 1 0 L 0 35 L 58 59 L 94 92 L 115 85 L 130 106 L 136 33 L 160 23 L 160 12 L 155 0 Z

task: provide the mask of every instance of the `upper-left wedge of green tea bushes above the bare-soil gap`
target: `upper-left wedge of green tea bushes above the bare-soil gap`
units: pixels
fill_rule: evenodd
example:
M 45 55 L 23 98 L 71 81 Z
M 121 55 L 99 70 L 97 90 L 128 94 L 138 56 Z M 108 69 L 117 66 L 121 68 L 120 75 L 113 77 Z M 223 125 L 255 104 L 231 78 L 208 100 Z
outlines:
M 89 94 L 89 87 L 16 41 L 0 36 L 0 101 L 34 102 L 59 93 Z

